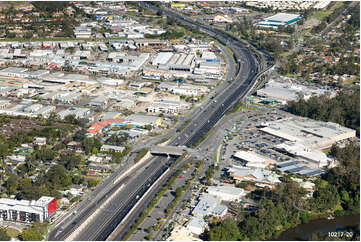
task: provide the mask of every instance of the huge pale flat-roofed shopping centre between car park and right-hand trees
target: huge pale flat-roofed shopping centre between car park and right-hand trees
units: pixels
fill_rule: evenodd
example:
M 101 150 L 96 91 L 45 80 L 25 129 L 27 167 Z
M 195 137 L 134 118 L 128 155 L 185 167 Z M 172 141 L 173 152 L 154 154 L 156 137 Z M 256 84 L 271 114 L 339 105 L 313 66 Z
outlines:
M 332 144 L 353 138 L 356 131 L 332 122 L 290 117 L 265 123 L 261 131 L 312 149 L 326 149 Z

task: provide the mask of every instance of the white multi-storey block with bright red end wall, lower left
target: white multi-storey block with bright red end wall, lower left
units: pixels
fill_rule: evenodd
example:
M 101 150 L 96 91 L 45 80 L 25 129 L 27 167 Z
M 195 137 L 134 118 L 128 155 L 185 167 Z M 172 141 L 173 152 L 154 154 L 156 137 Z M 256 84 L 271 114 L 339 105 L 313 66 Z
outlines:
M 44 222 L 56 211 L 56 199 L 43 196 L 37 201 L 0 198 L 0 221 Z

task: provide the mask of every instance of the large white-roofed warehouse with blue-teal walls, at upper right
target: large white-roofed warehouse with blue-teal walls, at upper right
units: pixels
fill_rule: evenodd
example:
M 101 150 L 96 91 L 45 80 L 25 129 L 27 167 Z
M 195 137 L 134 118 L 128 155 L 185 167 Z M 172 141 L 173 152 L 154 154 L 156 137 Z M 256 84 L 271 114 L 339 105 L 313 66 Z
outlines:
M 301 18 L 302 16 L 299 14 L 278 13 L 271 17 L 262 19 L 262 21 L 257 23 L 257 26 L 277 28 L 278 26 L 288 26 L 296 23 Z

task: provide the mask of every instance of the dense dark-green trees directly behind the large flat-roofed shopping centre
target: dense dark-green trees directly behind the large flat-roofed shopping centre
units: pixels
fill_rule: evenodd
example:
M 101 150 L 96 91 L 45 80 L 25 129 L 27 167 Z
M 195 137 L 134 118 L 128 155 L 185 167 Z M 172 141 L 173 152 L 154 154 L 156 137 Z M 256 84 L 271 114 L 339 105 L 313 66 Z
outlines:
M 307 101 L 300 98 L 299 101 L 289 102 L 286 110 L 296 115 L 338 123 L 355 129 L 360 135 L 360 89 L 354 89 L 351 94 L 341 91 L 335 98 L 314 96 Z

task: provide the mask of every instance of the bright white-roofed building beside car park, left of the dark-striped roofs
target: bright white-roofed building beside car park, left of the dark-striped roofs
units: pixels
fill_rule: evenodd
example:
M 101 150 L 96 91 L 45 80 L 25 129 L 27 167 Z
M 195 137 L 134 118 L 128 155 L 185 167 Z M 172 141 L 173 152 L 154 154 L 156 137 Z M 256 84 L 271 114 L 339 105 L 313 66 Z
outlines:
M 265 168 L 270 164 L 275 163 L 274 160 L 268 157 L 264 157 L 254 152 L 243 150 L 236 152 L 233 157 L 240 160 L 242 163 L 245 163 L 247 167 Z

